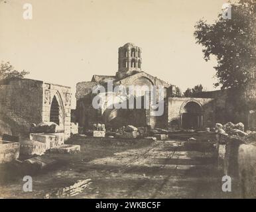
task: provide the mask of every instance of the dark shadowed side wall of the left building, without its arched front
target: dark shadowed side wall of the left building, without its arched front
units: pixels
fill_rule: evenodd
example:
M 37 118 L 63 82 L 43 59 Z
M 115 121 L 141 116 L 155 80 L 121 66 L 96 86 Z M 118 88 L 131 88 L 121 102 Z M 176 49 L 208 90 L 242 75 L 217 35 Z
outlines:
M 42 121 L 42 81 L 15 79 L 0 85 L 0 119 L 13 135 L 28 136 L 31 123 Z

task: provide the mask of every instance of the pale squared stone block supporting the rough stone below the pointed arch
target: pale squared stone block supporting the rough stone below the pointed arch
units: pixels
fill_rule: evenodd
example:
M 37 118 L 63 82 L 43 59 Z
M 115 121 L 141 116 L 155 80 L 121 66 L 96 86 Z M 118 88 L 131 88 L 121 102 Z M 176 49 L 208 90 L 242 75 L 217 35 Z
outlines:
M 64 144 L 64 133 L 31 133 L 30 139 L 46 144 L 46 150 L 48 150 Z

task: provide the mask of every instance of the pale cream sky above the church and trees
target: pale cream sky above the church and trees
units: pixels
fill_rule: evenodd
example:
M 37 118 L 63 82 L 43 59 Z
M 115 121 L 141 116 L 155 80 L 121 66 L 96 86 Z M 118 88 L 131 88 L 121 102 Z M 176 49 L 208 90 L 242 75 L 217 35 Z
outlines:
M 185 91 L 214 89 L 216 61 L 205 62 L 193 37 L 199 19 L 212 23 L 224 0 L 0 0 L 0 60 L 27 78 L 72 87 L 93 74 L 115 75 L 119 46 L 133 42 L 142 69 Z M 32 20 L 23 19 L 24 3 Z

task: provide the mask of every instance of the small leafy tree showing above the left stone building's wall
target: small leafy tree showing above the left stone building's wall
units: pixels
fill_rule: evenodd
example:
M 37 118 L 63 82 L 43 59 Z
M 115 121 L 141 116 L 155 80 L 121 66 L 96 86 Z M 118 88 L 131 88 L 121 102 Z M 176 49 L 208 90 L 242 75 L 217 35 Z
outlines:
M 0 80 L 11 78 L 24 78 L 29 72 L 22 70 L 21 72 L 15 70 L 10 62 L 1 63 L 0 66 Z

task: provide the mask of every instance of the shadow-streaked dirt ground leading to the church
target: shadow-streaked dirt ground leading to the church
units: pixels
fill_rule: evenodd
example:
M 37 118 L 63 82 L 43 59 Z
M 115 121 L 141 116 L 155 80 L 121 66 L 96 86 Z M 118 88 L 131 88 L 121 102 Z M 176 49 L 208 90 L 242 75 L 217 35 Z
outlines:
M 189 135 L 191 136 L 191 135 Z M 182 138 L 183 139 L 183 138 Z M 43 170 L 0 166 L 2 198 L 235 198 L 222 191 L 214 142 L 88 140 L 74 136 L 77 154 L 41 156 L 55 160 Z M 22 158 L 24 159 L 24 158 Z M 32 176 L 32 192 L 23 191 L 23 176 Z M 77 184 L 77 182 L 81 182 Z M 64 192 L 72 187 L 72 193 Z

